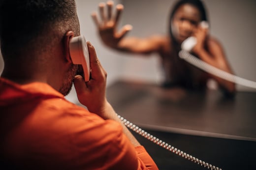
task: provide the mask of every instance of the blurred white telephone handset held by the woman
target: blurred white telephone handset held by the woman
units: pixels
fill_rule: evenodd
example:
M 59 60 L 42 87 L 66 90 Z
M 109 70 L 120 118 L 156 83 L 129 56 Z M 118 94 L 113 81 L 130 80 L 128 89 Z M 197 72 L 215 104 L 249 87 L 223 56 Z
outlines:
M 209 28 L 209 24 L 207 23 L 207 21 L 201 21 L 199 26 L 202 28 Z M 183 43 L 181 44 L 181 49 L 187 52 L 191 52 L 195 45 L 196 45 L 196 38 L 191 36 L 183 41 Z

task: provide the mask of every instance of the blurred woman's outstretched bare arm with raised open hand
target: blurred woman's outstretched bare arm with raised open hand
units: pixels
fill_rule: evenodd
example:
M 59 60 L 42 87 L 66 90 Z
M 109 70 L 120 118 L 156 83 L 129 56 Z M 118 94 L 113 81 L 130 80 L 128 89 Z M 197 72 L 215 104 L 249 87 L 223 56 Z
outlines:
M 130 25 L 125 25 L 120 31 L 117 30 L 124 6 L 122 4 L 116 5 L 115 15 L 112 13 L 112 8 L 113 1 L 108 1 L 107 4 L 99 3 L 101 21 L 99 21 L 96 12 L 92 14 L 100 38 L 106 46 L 119 51 L 137 54 L 150 54 L 159 51 L 164 37 L 158 35 L 147 38 L 126 37 L 128 31 L 132 29 Z

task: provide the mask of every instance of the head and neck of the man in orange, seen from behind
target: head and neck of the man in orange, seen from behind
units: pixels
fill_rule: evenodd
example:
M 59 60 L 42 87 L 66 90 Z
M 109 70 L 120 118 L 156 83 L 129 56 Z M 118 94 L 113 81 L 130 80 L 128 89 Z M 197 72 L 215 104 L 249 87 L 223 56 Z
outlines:
M 73 34 L 67 35 L 70 30 Z M 79 34 L 75 0 L 0 1 L 0 47 L 4 65 L 7 67 L 3 72 L 6 75 L 13 76 L 11 70 L 14 68 L 23 72 L 22 77 L 29 77 L 34 72 L 40 75 L 45 70 L 45 74 L 56 74 L 56 79 L 63 81 L 55 87 L 64 95 L 67 94 L 77 66 L 71 63 L 66 68 L 58 66 L 62 67 L 59 61 L 65 63 L 68 60 L 66 56 L 69 55 L 69 38 Z M 50 66 L 56 61 L 58 63 L 55 63 L 54 72 Z M 62 72 L 62 69 L 65 70 Z M 45 81 L 51 84 L 54 80 Z

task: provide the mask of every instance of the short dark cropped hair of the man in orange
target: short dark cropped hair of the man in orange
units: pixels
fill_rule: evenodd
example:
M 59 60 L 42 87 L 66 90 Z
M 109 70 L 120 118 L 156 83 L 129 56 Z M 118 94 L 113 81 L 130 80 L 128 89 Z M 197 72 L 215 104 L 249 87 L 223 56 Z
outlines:
M 37 38 L 53 29 L 69 29 L 79 34 L 75 0 L 0 0 L 3 57 L 21 54 L 24 48 L 38 45 Z

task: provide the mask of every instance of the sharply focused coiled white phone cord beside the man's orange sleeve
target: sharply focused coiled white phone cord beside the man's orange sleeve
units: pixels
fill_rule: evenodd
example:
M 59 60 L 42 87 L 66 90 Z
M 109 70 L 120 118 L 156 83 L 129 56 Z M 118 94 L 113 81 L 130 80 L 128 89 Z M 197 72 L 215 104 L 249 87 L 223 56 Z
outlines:
M 118 114 L 117 114 L 118 115 Z M 181 151 L 180 149 L 177 149 L 176 147 L 166 143 L 166 142 L 163 142 L 161 141 L 160 139 L 154 137 L 153 135 L 150 135 L 149 133 L 147 133 L 146 131 L 142 130 L 141 128 L 139 128 L 138 126 L 134 125 L 133 123 L 129 122 L 127 119 L 125 119 L 124 117 L 118 115 L 118 117 L 120 118 L 120 120 L 129 128 L 131 129 L 132 131 L 138 133 L 139 135 L 143 136 L 144 138 L 160 145 L 161 147 L 187 159 L 187 160 L 190 160 L 204 168 L 207 168 L 207 169 L 211 169 L 211 170 L 222 170 L 216 166 L 213 166 L 211 164 L 208 164 L 207 162 L 204 162 L 202 160 L 199 160 L 195 157 L 193 157 L 192 155 L 186 153 L 186 152 L 183 152 Z

